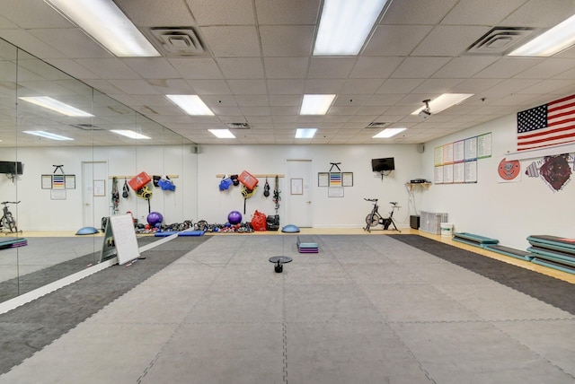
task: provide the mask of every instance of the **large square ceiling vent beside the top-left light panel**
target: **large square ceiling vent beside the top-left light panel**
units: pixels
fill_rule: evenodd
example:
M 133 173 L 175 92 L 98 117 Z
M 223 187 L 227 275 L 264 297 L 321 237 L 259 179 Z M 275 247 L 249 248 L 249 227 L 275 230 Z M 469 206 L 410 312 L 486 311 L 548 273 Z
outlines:
M 206 49 L 196 31 L 191 27 L 155 27 L 150 29 L 155 43 L 166 57 L 206 55 Z

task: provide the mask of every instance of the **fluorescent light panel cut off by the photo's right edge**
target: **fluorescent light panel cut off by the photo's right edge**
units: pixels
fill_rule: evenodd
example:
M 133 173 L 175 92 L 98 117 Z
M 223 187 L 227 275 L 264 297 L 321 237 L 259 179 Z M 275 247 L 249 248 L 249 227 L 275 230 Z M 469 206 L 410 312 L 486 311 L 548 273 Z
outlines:
M 575 44 L 575 15 L 527 42 L 509 56 L 551 57 Z

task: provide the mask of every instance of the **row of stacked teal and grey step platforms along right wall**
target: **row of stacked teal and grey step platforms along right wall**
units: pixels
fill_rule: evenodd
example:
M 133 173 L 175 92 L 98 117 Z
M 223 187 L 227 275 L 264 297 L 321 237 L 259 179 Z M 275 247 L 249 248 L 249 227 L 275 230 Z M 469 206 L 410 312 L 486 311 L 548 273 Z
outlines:
M 454 232 L 453 240 L 540 266 L 548 266 L 562 272 L 575 274 L 575 239 L 551 235 L 531 235 L 527 237 L 531 247 L 526 250 L 506 247 L 500 245 L 499 240 L 468 232 Z

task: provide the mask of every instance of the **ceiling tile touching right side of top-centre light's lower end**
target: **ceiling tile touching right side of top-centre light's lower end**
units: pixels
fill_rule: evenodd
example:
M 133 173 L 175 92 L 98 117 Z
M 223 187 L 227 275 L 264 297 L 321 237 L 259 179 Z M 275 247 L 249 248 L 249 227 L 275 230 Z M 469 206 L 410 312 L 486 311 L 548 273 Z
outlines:
M 432 29 L 429 25 L 378 25 L 362 54 L 408 56 Z

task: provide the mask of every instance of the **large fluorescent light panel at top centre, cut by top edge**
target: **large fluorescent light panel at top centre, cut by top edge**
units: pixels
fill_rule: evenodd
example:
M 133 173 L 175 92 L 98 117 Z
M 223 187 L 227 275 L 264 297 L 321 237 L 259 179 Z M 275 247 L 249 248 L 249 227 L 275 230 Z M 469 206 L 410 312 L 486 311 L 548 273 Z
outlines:
M 314 56 L 358 55 L 387 0 L 325 0 Z

